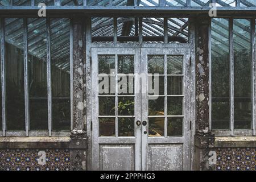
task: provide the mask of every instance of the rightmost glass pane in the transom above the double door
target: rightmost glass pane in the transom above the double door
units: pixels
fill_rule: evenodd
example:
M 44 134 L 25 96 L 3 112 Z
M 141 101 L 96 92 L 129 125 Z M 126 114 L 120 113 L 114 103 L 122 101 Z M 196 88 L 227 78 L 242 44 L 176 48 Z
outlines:
M 168 18 L 168 42 L 188 43 L 189 22 L 188 18 Z

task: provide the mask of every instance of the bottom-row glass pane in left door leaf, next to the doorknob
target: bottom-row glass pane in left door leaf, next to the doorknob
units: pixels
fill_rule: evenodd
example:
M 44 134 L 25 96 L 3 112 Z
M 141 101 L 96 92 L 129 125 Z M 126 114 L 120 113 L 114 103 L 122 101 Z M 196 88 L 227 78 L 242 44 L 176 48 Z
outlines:
M 118 118 L 118 136 L 134 136 L 134 118 Z

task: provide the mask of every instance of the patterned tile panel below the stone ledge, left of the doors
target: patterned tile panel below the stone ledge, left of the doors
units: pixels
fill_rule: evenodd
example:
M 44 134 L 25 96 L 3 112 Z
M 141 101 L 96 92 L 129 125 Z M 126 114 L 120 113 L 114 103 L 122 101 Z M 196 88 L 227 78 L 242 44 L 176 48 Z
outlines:
M 46 164 L 44 165 L 38 162 L 39 151 L 46 152 Z M 69 150 L 0 149 L 1 171 L 68 171 L 69 169 Z

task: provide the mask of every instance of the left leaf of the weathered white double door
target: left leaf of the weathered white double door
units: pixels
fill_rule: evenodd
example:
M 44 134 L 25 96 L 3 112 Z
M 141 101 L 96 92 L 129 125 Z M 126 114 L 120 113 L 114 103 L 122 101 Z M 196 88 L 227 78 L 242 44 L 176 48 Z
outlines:
M 141 169 L 140 72 L 140 49 L 92 49 L 93 170 Z

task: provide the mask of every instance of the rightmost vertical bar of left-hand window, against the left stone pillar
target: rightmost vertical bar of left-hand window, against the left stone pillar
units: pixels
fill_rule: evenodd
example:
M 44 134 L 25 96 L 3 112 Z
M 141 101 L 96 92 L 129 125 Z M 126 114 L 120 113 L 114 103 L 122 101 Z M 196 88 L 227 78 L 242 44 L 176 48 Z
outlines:
M 70 104 L 71 104 L 71 131 L 74 129 L 73 125 L 73 19 L 70 19 Z

